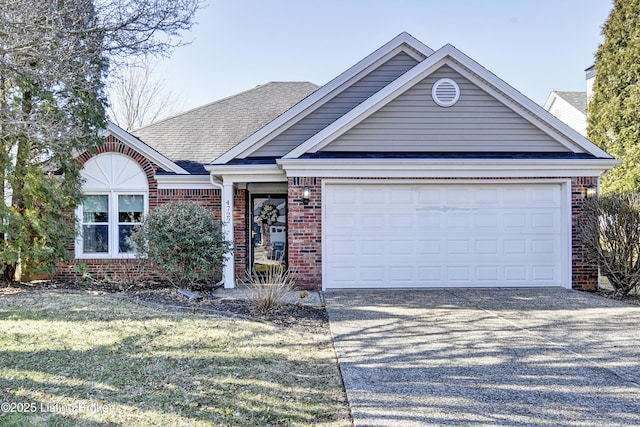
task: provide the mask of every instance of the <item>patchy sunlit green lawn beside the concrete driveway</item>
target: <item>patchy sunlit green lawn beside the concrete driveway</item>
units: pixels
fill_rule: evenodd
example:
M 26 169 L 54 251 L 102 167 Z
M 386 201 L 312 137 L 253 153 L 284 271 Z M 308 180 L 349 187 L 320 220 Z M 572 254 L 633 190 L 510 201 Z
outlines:
M 88 293 L 0 296 L 0 402 L 3 426 L 350 425 L 328 334 Z

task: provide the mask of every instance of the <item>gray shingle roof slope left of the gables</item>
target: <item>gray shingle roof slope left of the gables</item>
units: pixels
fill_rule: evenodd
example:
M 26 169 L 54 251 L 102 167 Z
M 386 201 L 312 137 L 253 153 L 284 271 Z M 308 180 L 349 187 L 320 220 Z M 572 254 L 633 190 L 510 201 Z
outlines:
M 132 133 L 178 164 L 207 164 L 316 89 L 309 82 L 270 82 Z

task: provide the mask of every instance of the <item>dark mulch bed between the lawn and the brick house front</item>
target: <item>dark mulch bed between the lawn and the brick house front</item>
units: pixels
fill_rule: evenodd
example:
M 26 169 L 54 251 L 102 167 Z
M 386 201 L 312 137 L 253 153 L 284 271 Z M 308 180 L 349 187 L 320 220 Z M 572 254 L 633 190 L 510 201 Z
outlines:
M 4 288 L 4 289 L 3 289 Z M 32 283 L 0 283 L 0 295 L 36 290 L 74 290 L 97 291 L 128 298 L 134 302 L 160 306 L 168 309 L 198 310 L 230 317 L 241 317 L 269 322 L 281 327 L 304 332 L 327 332 L 329 321 L 327 312 L 321 307 L 302 304 L 281 304 L 268 315 L 257 313 L 249 299 L 228 298 L 215 290 L 201 288 L 195 291 L 201 299 L 192 299 L 182 295 L 170 285 L 131 286 L 109 282 L 56 282 L 42 281 Z

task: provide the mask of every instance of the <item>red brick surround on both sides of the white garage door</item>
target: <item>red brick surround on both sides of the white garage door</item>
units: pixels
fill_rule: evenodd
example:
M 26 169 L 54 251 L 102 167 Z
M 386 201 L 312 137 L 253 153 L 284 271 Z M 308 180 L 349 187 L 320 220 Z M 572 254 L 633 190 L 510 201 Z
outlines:
M 567 177 L 558 177 L 567 179 Z M 366 178 L 362 178 L 366 179 Z M 468 178 L 465 178 L 468 179 Z M 485 178 L 477 178 L 486 180 Z M 504 178 L 524 180 L 531 178 Z M 451 179 L 443 179 L 443 181 Z M 322 288 L 322 179 L 289 178 L 289 271 L 300 287 Z M 594 177 L 578 177 L 571 180 L 572 209 L 572 287 L 595 291 L 598 288 L 598 268 L 589 263 L 578 236 L 578 224 L 582 214 L 582 201 L 589 186 L 597 186 Z M 311 190 L 308 205 L 302 203 L 302 190 Z

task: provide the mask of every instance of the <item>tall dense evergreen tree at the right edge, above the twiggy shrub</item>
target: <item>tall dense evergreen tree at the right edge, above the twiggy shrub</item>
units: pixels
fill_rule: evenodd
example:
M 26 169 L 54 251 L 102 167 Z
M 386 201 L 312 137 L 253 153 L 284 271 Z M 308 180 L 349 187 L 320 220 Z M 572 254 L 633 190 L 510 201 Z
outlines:
M 640 190 L 640 0 L 615 0 L 596 53 L 588 108 L 589 139 L 622 160 L 602 180 L 605 192 Z

